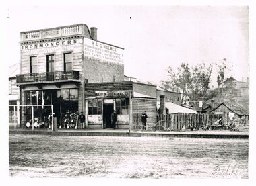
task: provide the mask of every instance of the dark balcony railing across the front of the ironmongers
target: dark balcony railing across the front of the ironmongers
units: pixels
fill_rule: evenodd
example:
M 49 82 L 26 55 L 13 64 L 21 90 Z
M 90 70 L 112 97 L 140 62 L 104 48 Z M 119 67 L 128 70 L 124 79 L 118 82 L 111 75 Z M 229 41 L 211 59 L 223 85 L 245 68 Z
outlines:
M 70 81 L 79 79 L 79 71 L 55 71 L 16 75 L 17 83 L 43 83 L 45 81 Z

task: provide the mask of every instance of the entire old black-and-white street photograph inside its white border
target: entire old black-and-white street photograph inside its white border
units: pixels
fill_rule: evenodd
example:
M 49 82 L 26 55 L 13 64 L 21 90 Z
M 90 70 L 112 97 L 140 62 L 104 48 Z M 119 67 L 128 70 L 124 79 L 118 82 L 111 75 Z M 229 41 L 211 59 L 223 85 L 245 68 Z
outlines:
M 7 13 L 10 179 L 249 179 L 249 6 Z

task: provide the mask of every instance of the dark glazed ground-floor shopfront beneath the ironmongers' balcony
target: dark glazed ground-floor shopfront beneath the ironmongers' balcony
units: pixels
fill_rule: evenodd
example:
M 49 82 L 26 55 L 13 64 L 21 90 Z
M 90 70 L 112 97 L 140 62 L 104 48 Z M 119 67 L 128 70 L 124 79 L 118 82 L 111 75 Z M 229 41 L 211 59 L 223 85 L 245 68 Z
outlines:
M 34 105 L 34 120 L 47 122 L 51 113 L 51 107 L 44 105 L 54 105 L 53 113 L 57 118 L 58 126 L 65 120 L 67 112 L 77 114 L 78 111 L 78 89 L 47 89 L 32 90 L 25 92 L 25 104 Z M 32 107 L 24 107 L 26 122 L 32 119 Z

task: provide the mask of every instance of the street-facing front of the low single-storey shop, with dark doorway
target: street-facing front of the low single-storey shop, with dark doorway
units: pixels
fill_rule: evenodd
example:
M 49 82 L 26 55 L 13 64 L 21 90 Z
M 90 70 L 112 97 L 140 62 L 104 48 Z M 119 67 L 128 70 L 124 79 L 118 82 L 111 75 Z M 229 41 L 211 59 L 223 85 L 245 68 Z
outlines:
M 130 94 L 132 91 L 96 91 L 86 99 L 88 128 L 111 128 L 111 114 L 117 113 L 117 127 L 129 127 Z

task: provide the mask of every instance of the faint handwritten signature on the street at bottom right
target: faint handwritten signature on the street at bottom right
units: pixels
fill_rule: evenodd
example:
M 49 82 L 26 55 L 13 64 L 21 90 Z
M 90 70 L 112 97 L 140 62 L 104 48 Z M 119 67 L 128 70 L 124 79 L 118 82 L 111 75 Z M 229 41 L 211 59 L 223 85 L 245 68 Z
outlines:
M 212 171 L 213 175 L 222 175 L 222 176 L 237 176 L 239 172 L 239 167 L 236 165 L 233 166 L 216 166 L 214 167 L 214 170 Z

